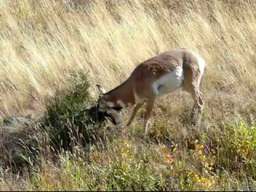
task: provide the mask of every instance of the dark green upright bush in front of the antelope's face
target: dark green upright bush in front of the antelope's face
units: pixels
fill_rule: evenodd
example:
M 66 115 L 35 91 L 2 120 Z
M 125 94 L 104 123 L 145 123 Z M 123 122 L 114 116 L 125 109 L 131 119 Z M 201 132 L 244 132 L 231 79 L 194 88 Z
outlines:
M 85 71 L 70 73 L 70 81 L 64 90 L 58 90 L 47 105 L 46 130 L 55 148 L 71 149 L 91 139 L 98 131 L 97 107 L 91 107 L 95 99 L 89 93 L 89 79 Z M 92 131 L 92 132 L 91 132 Z

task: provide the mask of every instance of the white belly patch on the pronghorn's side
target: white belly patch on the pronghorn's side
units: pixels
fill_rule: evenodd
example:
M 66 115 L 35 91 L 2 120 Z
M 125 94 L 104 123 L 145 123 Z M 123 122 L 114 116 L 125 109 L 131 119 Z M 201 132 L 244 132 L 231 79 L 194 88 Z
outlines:
M 153 83 L 153 90 L 157 97 L 170 93 L 178 89 L 184 79 L 182 67 L 175 68 L 172 73 L 158 78 Z

